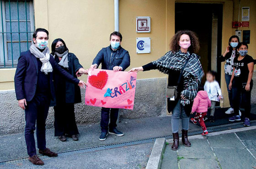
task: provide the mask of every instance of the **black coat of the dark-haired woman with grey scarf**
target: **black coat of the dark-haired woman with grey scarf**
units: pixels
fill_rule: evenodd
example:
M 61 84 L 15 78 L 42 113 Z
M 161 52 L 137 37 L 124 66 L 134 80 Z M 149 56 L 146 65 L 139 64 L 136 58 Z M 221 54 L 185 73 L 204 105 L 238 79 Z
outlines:
M 59 57 L 55 56 L 56 63 L 59 63 Z M 74 53 L 68 53 L 68 72 L 73 77 L 77 78 L 76 72 L 82 68 L 80 65 L 78 58 Z M 53 83 L 55 87 L 56 93 L 56 103 L 62 104 L 65 103 L 79 103 L 81 102 L 81 92 L 80 87 L 65 80 L 59 72 L 53 72 Z M 64 84 L 63 84 L 64 83 Z M 64 86 L 64 87 L 61 87 Z M 64 93 L 63 93 L 64 92 Z M 64 95 L 65 98 L 62 98 Z

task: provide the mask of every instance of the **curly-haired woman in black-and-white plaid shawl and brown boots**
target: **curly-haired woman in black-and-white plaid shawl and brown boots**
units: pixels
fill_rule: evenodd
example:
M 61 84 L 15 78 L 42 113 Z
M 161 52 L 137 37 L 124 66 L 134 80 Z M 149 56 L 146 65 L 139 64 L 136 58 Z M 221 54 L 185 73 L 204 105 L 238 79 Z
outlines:
M 190 147 L 187 139 L 189 115 L 192 102 L 197 95 L 198 86 L 203 77 L 203 68 L 197 51 L 200 49 L 196 34 L 192 31 L 178 31 L 172 38 L 171 51 L 156 61 L 142 67 L 132 68 L 129 72 L 149 71 L 158 69 L 169 75 L 168 87 L 176 87 L 177 97 L 168 98 L 168 111 L 172 111 L 171 127 L 173 145 L 171 149 L 179 147 L 179 119 L 182 124 L 182 143 Z M 180 76 L 181 75 L 181 76 Z

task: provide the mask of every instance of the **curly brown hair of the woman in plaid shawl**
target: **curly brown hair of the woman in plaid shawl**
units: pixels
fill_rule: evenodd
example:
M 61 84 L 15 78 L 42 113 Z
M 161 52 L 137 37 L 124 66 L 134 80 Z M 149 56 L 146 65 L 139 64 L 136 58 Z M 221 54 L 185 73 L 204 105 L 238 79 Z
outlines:
M 171 43 L 170 43 L 170 49 L 171 51 L 179 51 L 181 49 L 179 45 L 179 41 L 181 38 L 181 35 L 186 34 L 190 38 L 191 46 L 187 49 L 190 53 L 197 53 L 200 49 L 199 40 L 197 37 L 197 34 L 193 31 L 189 30 L 182 30 L 177 31 L 176 34 L 172 37 Z

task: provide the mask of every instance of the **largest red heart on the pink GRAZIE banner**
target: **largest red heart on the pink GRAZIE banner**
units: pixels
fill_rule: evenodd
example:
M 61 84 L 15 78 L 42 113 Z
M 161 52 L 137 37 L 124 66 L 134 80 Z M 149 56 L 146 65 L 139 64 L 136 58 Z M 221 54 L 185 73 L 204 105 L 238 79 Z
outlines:
M 96 87 L 98 89 L 103 89 L 107 84 L 108 74 L 106 71 L 100 71 L 97 75 L 91 75 L 88 78 L 88 82 L 91 86 Z

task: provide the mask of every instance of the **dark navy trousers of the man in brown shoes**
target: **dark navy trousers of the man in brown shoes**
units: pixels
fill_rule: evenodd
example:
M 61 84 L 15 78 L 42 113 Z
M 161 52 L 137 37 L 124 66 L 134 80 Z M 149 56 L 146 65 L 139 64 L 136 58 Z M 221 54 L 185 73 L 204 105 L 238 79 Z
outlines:
M 27 154 L 32 157 L 37 154 L 34 130 L 37 123 L 37 148 L 46 149 L 45 121 L 48 115 L 50 97 L 48 95 L 36 94 L 32 101 L 27 102 L 25 109 L 25 139 L 27 144 Z

